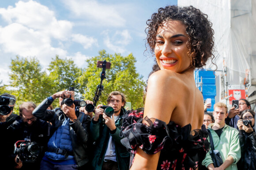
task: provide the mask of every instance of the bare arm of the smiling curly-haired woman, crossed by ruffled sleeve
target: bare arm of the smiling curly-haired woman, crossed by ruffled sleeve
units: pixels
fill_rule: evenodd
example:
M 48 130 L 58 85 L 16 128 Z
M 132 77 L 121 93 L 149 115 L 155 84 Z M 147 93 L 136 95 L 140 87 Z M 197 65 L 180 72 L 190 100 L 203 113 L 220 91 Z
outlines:
M 144 109 L 144 118 L 155 118 L 169 123 L 176 101 L 179 96 L 175 93 L 177 83 L 173 83 L 170 71 L 160 70 L 152 74 L 148 80 L 147 97 Z M 173 89 L 173 90 L 170 90 Z M 146 123 L 146 122 L 144 122 Z M 131 170 L 155 170 L 158 165 L 160 152 L 148 155 L 138 148 Z

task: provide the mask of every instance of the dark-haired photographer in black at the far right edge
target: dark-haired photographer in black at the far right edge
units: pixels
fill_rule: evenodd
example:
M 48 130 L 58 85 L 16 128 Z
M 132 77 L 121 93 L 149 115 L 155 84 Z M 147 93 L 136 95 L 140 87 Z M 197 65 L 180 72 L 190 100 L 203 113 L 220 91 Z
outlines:
M 239 128 L 239 141 L 241 145 L 241 159 L 239 170 L 255 170 L 256 169 L 256 134 L 254 130 L 255 112 L 246 109 L 241 114 L 241 118 L 237 122 Z

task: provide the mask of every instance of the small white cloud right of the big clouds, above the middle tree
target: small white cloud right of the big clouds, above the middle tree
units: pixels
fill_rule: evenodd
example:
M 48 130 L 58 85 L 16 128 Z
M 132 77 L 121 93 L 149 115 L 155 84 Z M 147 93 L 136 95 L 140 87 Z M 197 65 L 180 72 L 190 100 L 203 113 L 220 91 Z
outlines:
M 89 36 L 83 36 L 81 34 L 73 34 L 72 41 L 76 43 L 81 43 L 84 49 L 88 49 L 94 44 L 98 46 L 97 39 L 94 39 L 93 37 Z

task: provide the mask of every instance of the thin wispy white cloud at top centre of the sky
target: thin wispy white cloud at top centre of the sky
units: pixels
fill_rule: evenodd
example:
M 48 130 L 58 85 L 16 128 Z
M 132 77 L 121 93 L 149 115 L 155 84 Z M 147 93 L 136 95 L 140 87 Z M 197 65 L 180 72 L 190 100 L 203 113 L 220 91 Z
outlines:
M 113 4 L 100 4 L 96 0 L 64 0 L 66 7 L 77 17 L 87 18 L 93 25 L 122 27 L 125 19 L 118 12 L 119 7 Z

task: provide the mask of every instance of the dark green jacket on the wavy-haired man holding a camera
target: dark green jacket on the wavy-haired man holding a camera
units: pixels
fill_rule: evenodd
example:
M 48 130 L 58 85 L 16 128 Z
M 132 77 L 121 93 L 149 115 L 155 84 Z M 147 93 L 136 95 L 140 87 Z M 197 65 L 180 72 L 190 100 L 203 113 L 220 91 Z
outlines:
M 117 163 L 119 170 L 128 170 L 129 169 L 129 161 L 130 161 L 130 153 L 127 149 L 121 144 L 121 137 L 119 136 L 120 128 L 123 123 L 123 115 L 126 112 L 125 109 L 121 109 L 120 118 L 117 119 L 115 125 L 117 130 L 114 134 L 110 134 L 109 128 L 102 124 L 102 119 L 100 118 L 98 122 L 92 121 L 90 124 L 90 132 L 93 141 L 95 141 L 95 150 L 94 156 L 92 160 L 92 167 L 94 170 L 102 170 L 102 164 L 104 161 L 105 152 L 107 150 L 107 146 L 109 143 L 109 137 L 112 136 L 115 145 Z

